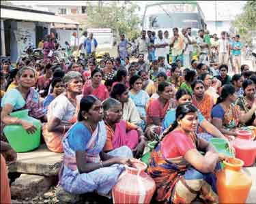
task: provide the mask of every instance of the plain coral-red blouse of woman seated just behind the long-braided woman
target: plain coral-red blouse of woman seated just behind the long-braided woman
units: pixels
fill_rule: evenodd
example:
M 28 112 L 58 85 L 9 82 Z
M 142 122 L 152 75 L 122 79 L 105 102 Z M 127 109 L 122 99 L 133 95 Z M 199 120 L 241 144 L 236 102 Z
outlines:
M 154 99 L 150 101 L 150 104 L 147 107 L 147 124 L 153 124 L 153 117 L 160 118 L 161 122 L 165 118 L 165 114 L 167 114 L 167 110 L 169 109 L 170 101 L 167 101 L 165 105 L 159 101 L 159 99 Z

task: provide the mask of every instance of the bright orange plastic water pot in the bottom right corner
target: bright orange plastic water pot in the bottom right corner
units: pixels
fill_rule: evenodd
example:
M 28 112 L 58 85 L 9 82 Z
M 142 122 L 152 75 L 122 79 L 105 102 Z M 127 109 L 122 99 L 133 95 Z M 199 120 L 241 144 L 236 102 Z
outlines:
M 216 173 L 218 203 L 246 203 L 252 178 L 242 170 L 244 162 L 229 158 L 224 165 L 224 169 Z

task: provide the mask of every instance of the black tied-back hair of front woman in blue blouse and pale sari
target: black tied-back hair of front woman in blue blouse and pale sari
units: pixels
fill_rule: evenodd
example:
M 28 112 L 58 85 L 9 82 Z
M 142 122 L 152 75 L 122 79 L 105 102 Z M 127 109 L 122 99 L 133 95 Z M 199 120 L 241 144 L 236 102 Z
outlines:
M 94 95 L 88 95 L 86 97 L 83 97 L 80 101 L 79 115 L 78 115 L 77 120 L 79 120 L 79 121 L 85 120 L 85 118 L 83 117 L 83 113 L 89 112 L 89 109 L 91 109 L 91 107 L 94 105 L 94 103 L 99 100 L 100 99 L 98 99 Z

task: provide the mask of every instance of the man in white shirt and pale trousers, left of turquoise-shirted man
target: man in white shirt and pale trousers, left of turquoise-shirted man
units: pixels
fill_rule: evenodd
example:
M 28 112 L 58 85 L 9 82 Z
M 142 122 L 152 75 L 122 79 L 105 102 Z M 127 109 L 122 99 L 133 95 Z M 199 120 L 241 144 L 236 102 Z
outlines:
M 227 33 L 221 32 L 221 39 L 218 41 L 218 64 L 228 65 L 229 63 L 229 41 Z

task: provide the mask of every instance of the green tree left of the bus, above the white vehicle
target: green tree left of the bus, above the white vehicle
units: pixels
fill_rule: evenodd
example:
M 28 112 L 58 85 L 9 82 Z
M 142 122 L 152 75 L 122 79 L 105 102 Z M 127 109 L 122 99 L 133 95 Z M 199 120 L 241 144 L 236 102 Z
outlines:
M 98 1 L 97 5 L 87 4 L 87 24 L 85 28 L 111 28 L 118 35 L 126 34 L 129 39 L 139 35 L 139 17 L 135 11 L 139 6 L 131 1 L 120 5 L 118 1 L 106 4 Z

